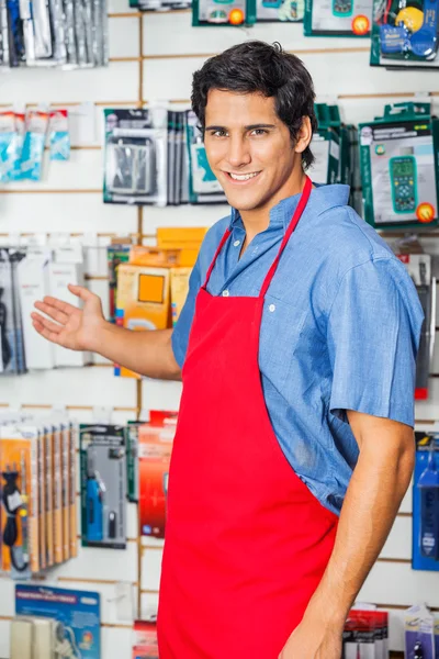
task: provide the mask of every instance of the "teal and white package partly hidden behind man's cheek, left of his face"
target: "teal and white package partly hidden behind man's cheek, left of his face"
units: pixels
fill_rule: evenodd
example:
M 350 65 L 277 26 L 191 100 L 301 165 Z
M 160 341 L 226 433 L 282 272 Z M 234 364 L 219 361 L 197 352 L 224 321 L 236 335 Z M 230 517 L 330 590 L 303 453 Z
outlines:
M 221 11 L 221 10 L 216 10 Z M 196 114 L 188 111 L 189 200 L 191 203 L 225 203 L 226 197 L 207 161 L 203 134 Z

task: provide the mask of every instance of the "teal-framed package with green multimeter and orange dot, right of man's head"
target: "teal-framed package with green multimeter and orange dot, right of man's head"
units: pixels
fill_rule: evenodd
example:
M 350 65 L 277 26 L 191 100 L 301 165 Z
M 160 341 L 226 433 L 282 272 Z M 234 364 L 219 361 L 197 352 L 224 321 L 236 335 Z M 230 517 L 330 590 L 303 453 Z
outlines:
M 376 228 L 437 225 L 439 122 L 429 103 L 386 105 L 360 124 L 364 219 Z

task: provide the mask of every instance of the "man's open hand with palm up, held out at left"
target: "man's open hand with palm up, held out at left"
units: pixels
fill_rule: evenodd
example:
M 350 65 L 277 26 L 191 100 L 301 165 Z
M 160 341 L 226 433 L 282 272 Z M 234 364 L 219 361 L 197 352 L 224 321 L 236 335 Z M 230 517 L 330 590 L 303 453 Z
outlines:
M 43 301 L 35 302 L 35 308 L 48 317 L 33 313 L 33 325 L 47 340 L 71 350 L 87 350 L 93 334 L 104 321 L 102 304 L 98 295 L 87 289 L 81 287 L 69 287 L 69 289 L 83 301 L 83 309 L 47 297 Z

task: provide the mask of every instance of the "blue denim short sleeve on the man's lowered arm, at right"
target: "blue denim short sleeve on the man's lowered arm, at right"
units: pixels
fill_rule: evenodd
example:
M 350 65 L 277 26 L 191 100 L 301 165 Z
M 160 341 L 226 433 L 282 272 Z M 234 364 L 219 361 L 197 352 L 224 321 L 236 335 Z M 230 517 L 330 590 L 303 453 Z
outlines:
M 414 426 L 423 321 L 416 288 L 396 258 L 344 276 L 327 327 L 333 414 L 347 421 L 346 410 L 354 410 Z

